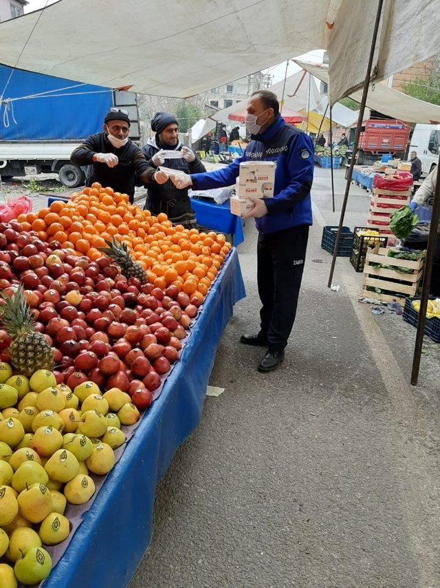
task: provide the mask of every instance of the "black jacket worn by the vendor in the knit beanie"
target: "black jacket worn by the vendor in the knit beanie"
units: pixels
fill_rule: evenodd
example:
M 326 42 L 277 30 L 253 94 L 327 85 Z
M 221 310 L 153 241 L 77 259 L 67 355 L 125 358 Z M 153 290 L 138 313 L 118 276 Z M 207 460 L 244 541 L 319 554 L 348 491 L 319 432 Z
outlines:
M 182 145 L 179 143 L 175 149 L 179 151 L 181 147 Z M 151 165 L 153 168 L 155 168 L 155 165 L 151 158 L 157 154 L 159 149 L 170 149 L 170 147 L 161 147 L 157 134 L 150 137 L 146 142 L 146 145 L 142 147 L 142 154 L 145 156 L 148 165 Z M 164 167 L 179 169 L 180 171 L 184 171 L 185 174 L 200 174 L 203 173 L 203 171 L 206 171 L 205 166 L 197 156 L 191 163 L 188 163 L 183 158 L 166 159 Z M 146 208 L 148 208 L 153 214 L 164 212 L 170 218 L 173 218 L 180 214 L 184 214 L 185 212 L 192 212 L 190 199 L 188 197 L 188 188 L 178 190 L 171 180 L 168 180 L 162 185 L 147 184 L 145 187 L 148 191 Z M 179 201 L 177 209 L 175 207 L 176 201 Z M 171 207 L 175 210 L 171 211 Z

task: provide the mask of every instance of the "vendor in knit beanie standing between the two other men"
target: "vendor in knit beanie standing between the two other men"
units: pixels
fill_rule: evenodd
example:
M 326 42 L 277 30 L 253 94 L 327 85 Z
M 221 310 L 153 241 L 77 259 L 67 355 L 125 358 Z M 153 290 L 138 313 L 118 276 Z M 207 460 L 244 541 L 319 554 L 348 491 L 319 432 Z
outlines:
M 206 171 L 203 163 L 189 147 L 179 141 L 179 126 L 172 114 L 156 112 L 151 120 L 151 130 L 155 132 L 142 147 L 148 165 L 154 168 L 162 165 L 170 169 L 184 171 L 185 174 L 198 174 Z M 166 151 L 180 151 L 181 157 L 167 158 Z M 168 179 L 162 185 L 147 184 L 148 196 L 145 208 L 157 215 L 164 212 L 173 224 L 183 224 L 186 229 L 195 227 L 195 214 L 192 211 L 188 188 L 178 190 Z

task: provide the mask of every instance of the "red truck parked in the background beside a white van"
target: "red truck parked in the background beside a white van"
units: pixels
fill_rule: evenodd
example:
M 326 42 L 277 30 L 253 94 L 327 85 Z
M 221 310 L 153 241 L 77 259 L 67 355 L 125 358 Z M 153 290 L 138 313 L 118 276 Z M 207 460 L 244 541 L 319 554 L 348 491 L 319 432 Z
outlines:
M 368 164 L 383 154 L 404 158 L 410 127 L 401 120 L 370 118 L 366 120 L 359 139 L 358 164 Z

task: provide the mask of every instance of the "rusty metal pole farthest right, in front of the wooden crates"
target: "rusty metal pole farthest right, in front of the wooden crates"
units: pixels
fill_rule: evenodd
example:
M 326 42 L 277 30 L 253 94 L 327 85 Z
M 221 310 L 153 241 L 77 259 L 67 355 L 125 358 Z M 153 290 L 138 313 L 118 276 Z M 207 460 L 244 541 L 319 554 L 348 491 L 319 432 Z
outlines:
M 440 156 L 439 156 L 440 165 Z M 437 170 L 439 166 L 437 165 Z M 428 237 L 428 249 L 426 251 L 425 269 L 423 272 L 423 286 L 421 288 L 421 299 L 419 308 L 419 322 L 417 324 L 417 335 L 415 337 L 414 355 L 412 357 L 411 384 L 417 386 L 419 379 L 421 346 L 425 334 L 426 309 L 428 308 L 428 296 L 432 277 L 432 262 L 434 260 L 435 244 L 440 218 L 440 178 L 437 171 L 437 182 L 434 190 L 434 202 L 432 203 L 432 218 Z

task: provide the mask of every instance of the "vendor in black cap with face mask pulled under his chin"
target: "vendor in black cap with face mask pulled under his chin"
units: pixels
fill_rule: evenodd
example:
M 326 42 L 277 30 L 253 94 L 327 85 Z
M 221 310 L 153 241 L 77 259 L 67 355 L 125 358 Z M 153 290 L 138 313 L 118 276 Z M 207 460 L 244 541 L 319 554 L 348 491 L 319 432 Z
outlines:
M 148 165 L 142 151 L 129 138 L 130 120 L 125 110 L 111 108 L 105 115 L 102 132 L 91 135 L 73 151 L 75 165 L 87 165 L 86 186 L 100 182 L 115 192 L 129 195 L 133 202 L 135 178 L 144 184 L 162 184 L 168 175 Z

